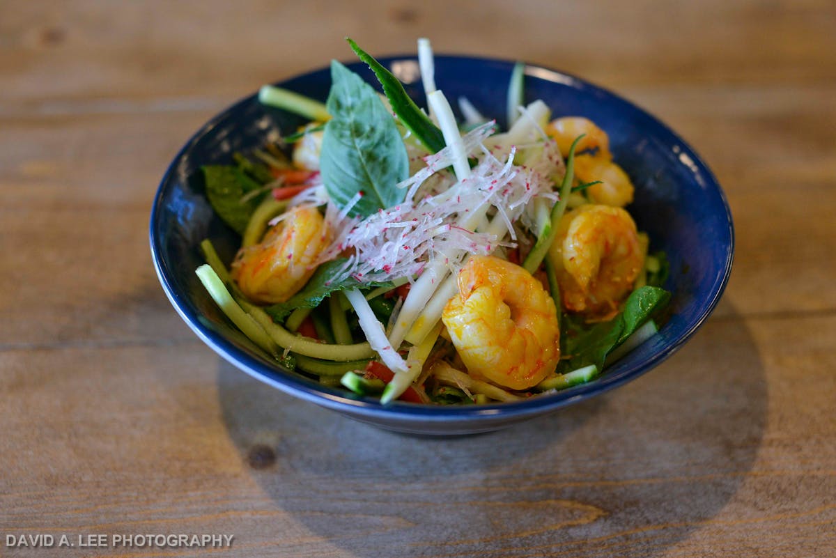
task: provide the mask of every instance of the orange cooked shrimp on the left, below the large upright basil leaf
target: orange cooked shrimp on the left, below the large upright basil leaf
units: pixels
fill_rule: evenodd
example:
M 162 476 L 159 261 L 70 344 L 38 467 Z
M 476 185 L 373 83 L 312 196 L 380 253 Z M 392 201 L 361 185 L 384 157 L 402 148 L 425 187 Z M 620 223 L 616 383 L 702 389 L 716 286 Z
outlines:
M 285 302 L 314 274 L 314 261 L 329 246 L 331 232 L 319 211 L 294 207 L 263 241 L 238 251 L 232 278 L 254 302 Z

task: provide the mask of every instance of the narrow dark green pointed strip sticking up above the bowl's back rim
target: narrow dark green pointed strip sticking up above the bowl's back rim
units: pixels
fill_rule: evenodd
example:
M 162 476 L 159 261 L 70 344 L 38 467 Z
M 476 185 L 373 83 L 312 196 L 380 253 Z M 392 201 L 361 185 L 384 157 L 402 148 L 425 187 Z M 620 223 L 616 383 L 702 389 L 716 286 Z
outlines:
M 400 122 L 431 153 L 438 153 L 443 150 L 446 144 L 444 142 L 444 134 L 441 134 L 441 129 L 436 124 L 433 124 L 432 120 L 418 108 L 415 101 L 410 99 L 410 96 L 406 94 L 404 86 L 400 84 L 400 79 L 395 78 L 389 70 L 383 67 L 383 64 L 375 60 L 375 58 L 369 53 L 366 53 L 362 48 L 359 48 L 357 43 L 354 43 L 350 38 L 346 38 L 346 40 L 359 59 L 368 64 L 369 68 L 375 72 L 375 76 L 380 81 L 380 85 L 383 86 L 383 93 L 386 95 L 386 99 L 389 99 L 389 104 L 392 105 L 392 110 L 398 115 Z

